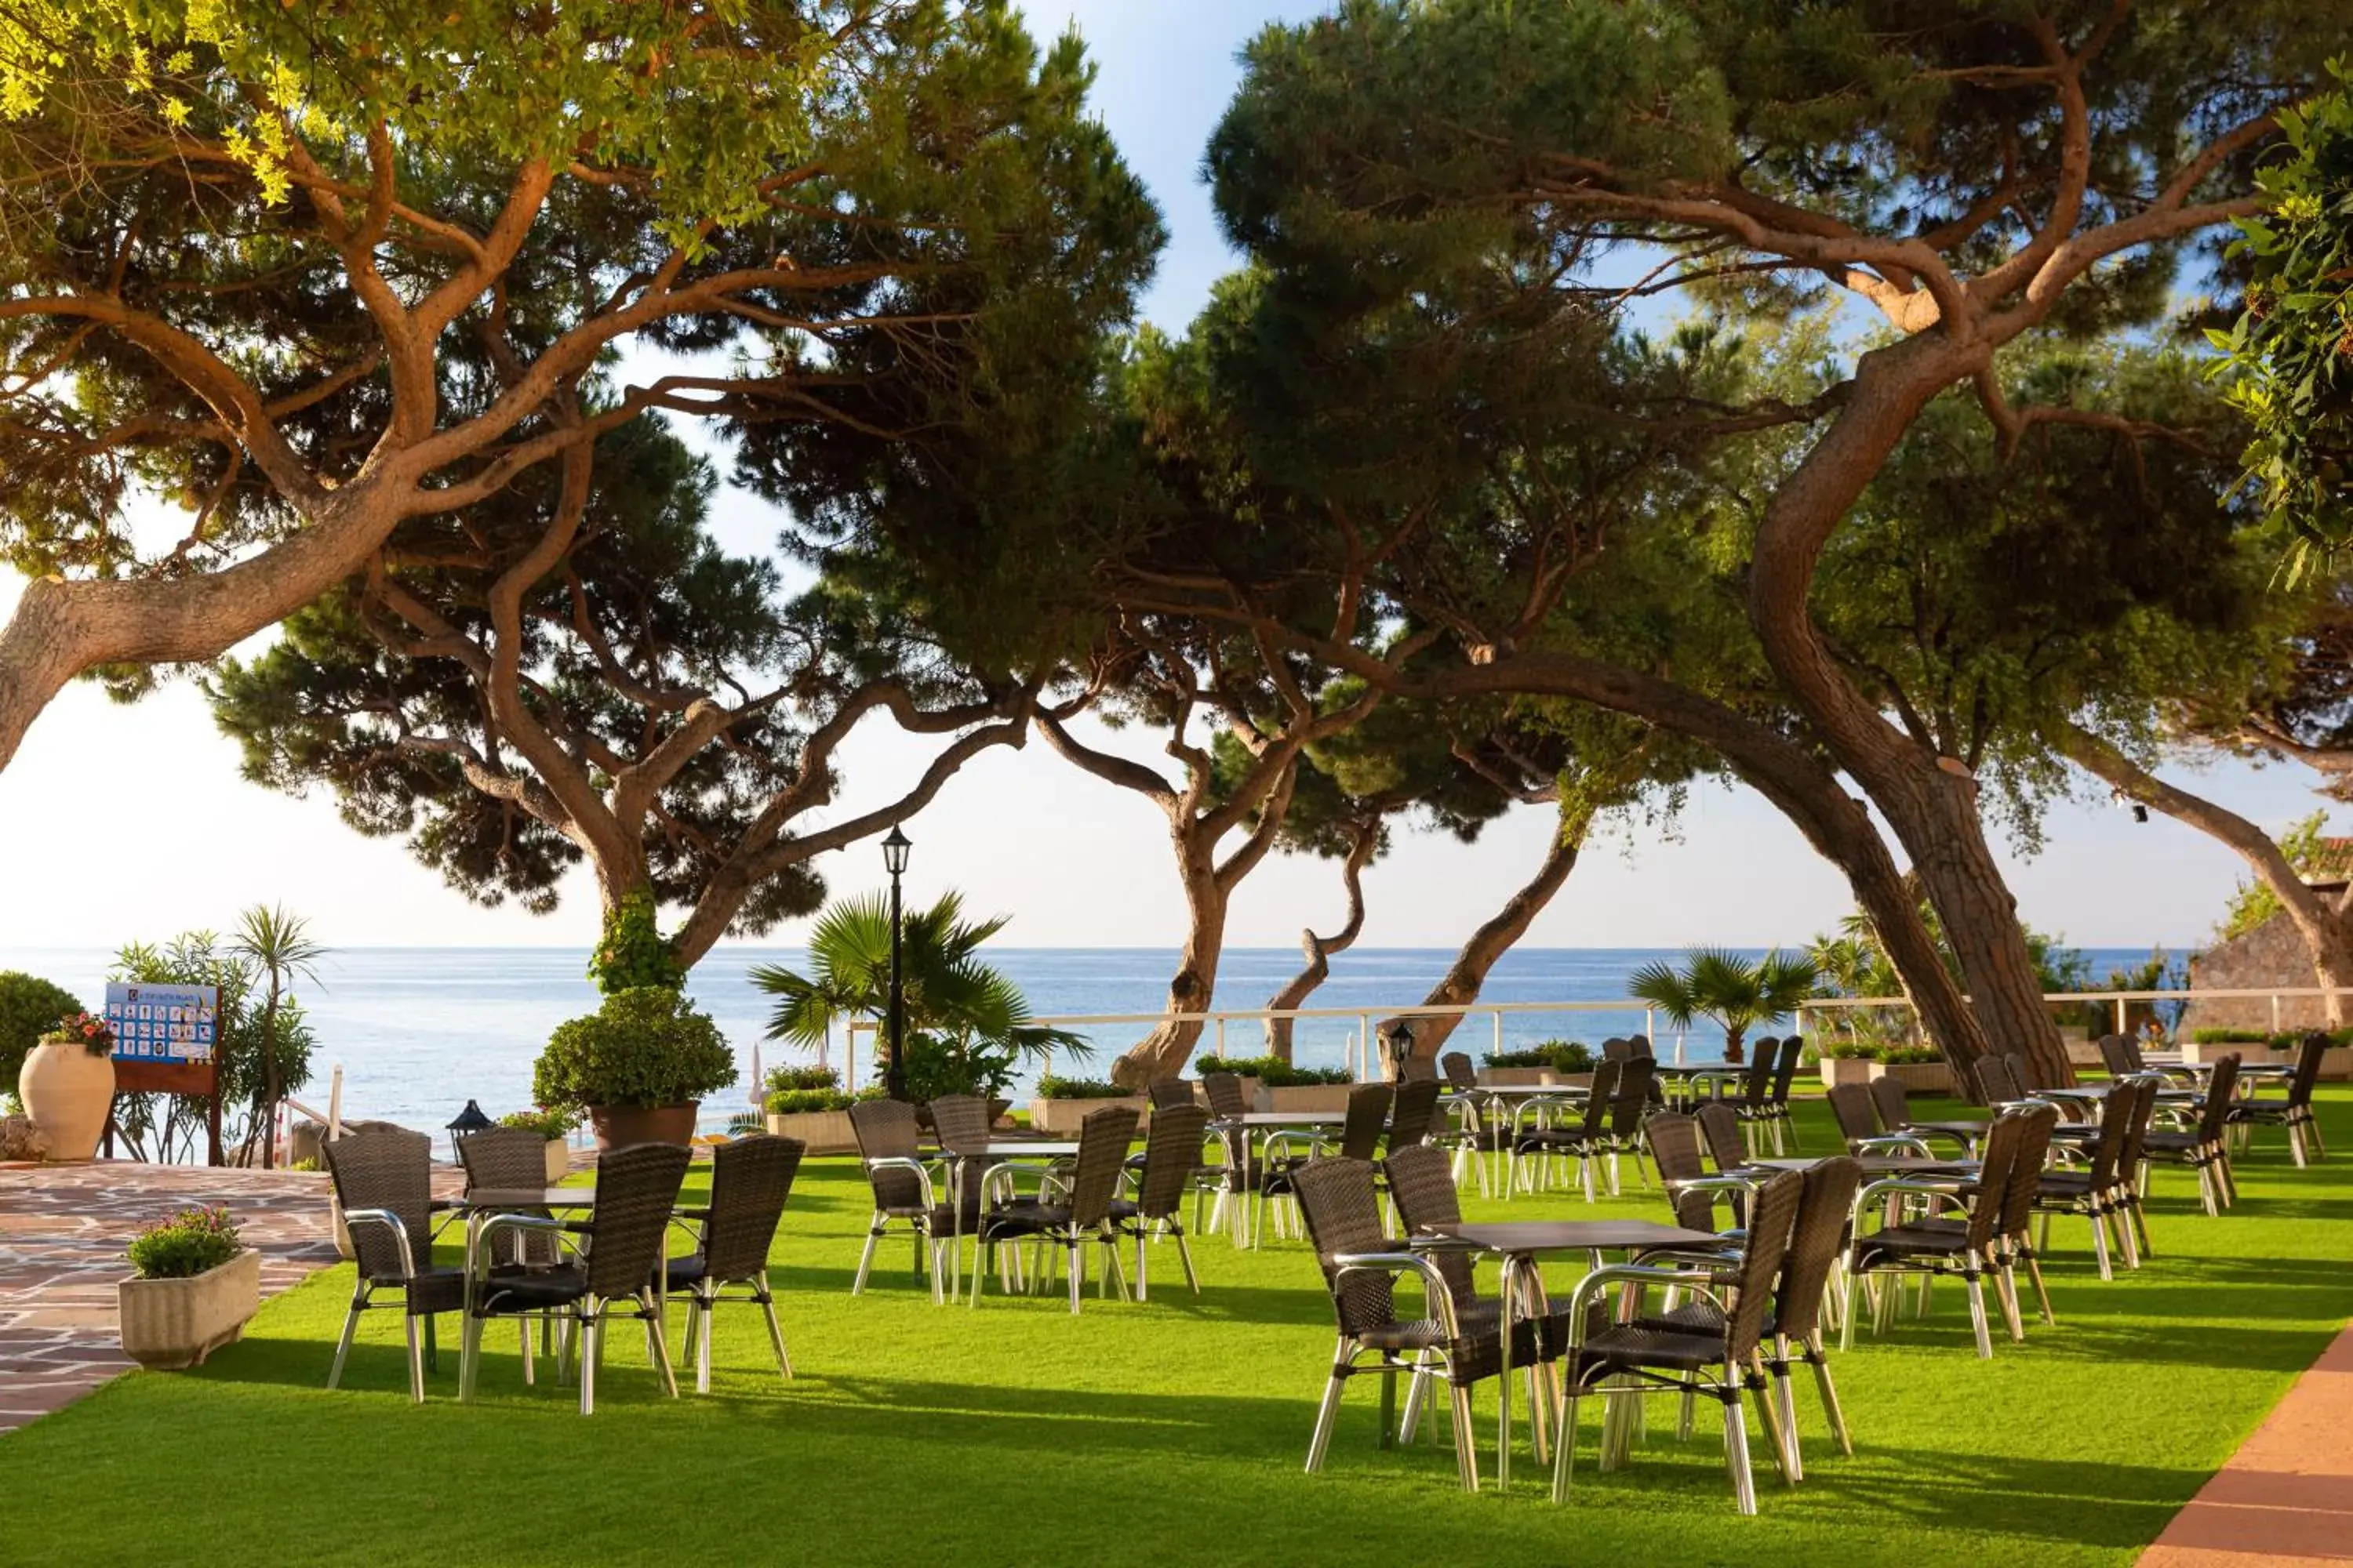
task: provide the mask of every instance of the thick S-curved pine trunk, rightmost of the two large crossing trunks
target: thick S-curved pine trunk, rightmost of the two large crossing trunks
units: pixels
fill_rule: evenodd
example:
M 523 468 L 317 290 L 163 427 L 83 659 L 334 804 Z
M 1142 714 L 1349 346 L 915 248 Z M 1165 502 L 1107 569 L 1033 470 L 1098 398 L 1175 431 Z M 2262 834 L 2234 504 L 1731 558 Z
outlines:
M 1765 505 L 1751 557 L 1748 618 L 1809 729 L 1897 830 L 1944 919 L 1984 1034 L 2024 1051 L 2042 1081 L 2059 1086 L 2073 1084 L 2075 1070 L 2042 1004 L 2017 900 L 1986 846 L 1977 780 L 1889 724 L 1831 658 L 1807 611 L 1814 567 L 1847 508 L 1920 409 L 1984 369 L 1991 355 L 1984 341 L 1955 343 L 1934 331 L 1861 357 L 1838 418 Z M 1906 980 L 1918 983 L 1911 973 Z

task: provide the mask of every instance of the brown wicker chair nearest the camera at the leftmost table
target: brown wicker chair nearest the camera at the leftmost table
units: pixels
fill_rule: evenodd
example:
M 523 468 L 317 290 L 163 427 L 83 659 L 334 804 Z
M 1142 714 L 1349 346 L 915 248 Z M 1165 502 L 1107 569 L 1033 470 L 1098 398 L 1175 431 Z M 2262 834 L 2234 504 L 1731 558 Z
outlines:
M 664 1309 L 656 1293 L 664 1237 L 678 1187 L 687 1178 L 687 1150 L 673 1143 L 640 1143 L 612 1150 L 595 1161 L 595 1213 L 588 1220 L 539 1220 L 532 1215 L 492 1215 L 482 1239 L 501 1229 L 541 1229 L 581 1237 L 579 1262 L 555 1269 L 492 1269 L 475 1262 L 466 1281 L 466 1354 L 459 1371 L 459 1399 L 468 1401 L 482 1371 L 482 1324 L 494 1316 L 560 1316 L 574 1333 L 565 1345 L 579 1349 L 581 1415 L 595 1415 L 595 1375 L 605 1359 L 605 1321 L 621 1309 L 645 1324 L 647 1352 L 661 1371 L 661 1385 L 678 1399 L 678 1375 L 664 1338 Z M 482 1248 L 487 1258 L 489 1246 Z

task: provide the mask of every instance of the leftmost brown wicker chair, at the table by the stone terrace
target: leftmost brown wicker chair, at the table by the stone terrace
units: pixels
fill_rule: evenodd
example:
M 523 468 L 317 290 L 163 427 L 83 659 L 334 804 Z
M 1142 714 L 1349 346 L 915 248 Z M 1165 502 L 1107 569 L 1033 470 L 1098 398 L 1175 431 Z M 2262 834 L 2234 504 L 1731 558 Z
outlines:
M 334 1201 L 344 1206 L 344 1227 L 358 1279 L 351 1309 L 344 1314 L 344 1338 L 327 1366 L 327 1387 L 341 1387 L 344 1361 L 362 1312 L 381 1312 L 395 1302 L 374 1300 L 376 1291 L 400 1293 L 400 1316 L 409 1340 L 409 1399 L 426 1399 L 426 1366 L 438 1363 L 433 1319 L 466 1309 L 466 1269 L 433 1265 L 433 1215 L 447 1204 L 433 1201 L 433 1140 L 424 1133 L 388 1128 L 381 1133 L 346 1133 L 320 1145 Z M 541 1166 L 534 1187 L 546 1180 Z M 419 1319 L 424 1342 L 419 1345 Z

